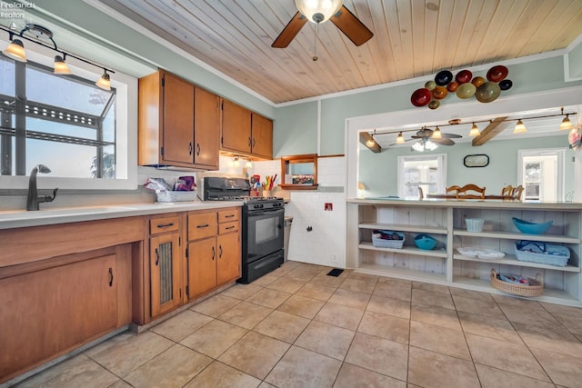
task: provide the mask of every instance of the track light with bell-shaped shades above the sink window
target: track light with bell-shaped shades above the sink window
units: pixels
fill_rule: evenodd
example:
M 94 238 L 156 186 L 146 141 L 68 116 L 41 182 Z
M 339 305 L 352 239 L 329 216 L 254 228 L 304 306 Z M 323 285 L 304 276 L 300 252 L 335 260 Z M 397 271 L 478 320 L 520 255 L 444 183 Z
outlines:
M 4 25 L 0 25 L 0 30 L 3 30 L 8 33 L 8 37 L 10 39 L 10 45 L 8 45 L 5 50 L 2 52 L 9 58 L 14 59 L 18 62 L 26 62 L 26 53 L 25 53 L 25 45 L 22 43 L 22 39 L 32 42 L 35 45 L 42 45 L 43 47 L 49 48 L 57 53 L 55 55 L 55 74 L 56 75 L 69 75 L 71 74 L 71 70 L 69 69 L 68 65 L 65 63 L 65 59 L 67 56 L 75 58 L 81 62 L 85 62 L 85 64 L 92 65 L 95 67 L 102 68 L 104 74 L 97 80 L 95 85 L 99 86 L 104 90 L 111 90 L 111 80 L 109 78 L 109 74 L 115 74 L 115 72 L 111 69 L 108 69 L 102 65 L 96 65 L 95 63 L 86 60 L 85 58 L 81 58 L 79 56 L 73 55 L 71 53 L 67 53 L 64 50 L 59 49 L 56 46 L 55 40 L 53 39 L 53 33 L 48 29 L 43 27 L 42 25 L 35 25 L 33 23 L 28 23 L 25 27 L 20 31 L 20 33 L 16 33 L 14 30 L 5 27 Z M 25 33 L 29 35 L 35 36 L 35 38 L 25 36 Z M 17 36 L 17 37 L 15 37 Z M 50 40 L 52 45 L 47 45 L 42 42 L 42 39 Z

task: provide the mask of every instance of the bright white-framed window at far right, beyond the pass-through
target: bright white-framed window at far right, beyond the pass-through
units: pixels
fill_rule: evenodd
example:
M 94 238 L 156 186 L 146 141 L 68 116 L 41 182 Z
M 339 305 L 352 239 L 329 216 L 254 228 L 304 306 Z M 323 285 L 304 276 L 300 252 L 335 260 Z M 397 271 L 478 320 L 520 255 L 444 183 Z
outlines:
M 517 176 L 526 201 L 564 200 L 564 149 L 517 151 Z

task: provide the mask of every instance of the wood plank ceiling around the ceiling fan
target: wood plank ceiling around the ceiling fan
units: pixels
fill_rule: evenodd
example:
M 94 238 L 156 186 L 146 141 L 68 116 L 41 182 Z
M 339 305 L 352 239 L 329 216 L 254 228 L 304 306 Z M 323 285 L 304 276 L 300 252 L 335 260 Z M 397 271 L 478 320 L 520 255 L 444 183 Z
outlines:
M 100 1 L 273 103 L 562 49 L 582 34 L 580 0 L 344 0 L 374 33 L 366 44 L 326 22 L 278 49 L 294 0 Z

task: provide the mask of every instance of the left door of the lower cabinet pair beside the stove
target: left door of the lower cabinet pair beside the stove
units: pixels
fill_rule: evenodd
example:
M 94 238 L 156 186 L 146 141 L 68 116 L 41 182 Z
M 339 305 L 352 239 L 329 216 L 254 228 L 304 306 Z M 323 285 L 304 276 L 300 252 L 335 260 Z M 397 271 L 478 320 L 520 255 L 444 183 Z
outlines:
M 216 287 L 216 238 L 188 244 L 188 298 Z

